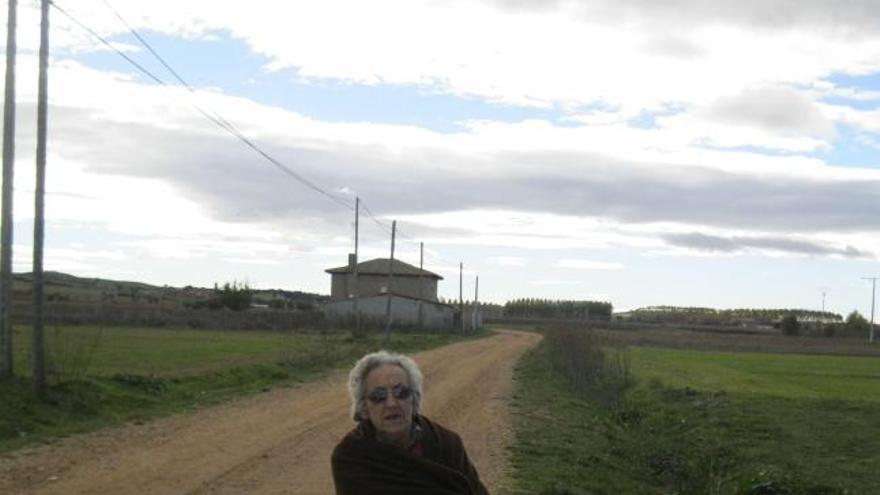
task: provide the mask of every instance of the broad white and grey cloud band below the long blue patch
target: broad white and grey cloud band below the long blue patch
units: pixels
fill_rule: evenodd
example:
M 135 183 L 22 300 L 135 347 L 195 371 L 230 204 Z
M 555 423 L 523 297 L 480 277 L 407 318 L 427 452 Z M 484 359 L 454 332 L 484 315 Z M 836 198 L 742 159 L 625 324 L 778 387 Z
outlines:
M 278 225 L 317 229 L 312 239 L 348 235 L 351 212 L 181 107 L 176 90 L 76 64 L 59 71 L 68 81 L 82 76 L 89 84 L 53 86 L 52 153 L 63 166 L 53 168 L 50 191 L 69 194 L 57 199 L 65 205 L 58 218 L 93 219 L 130 235 L 222 233 L 278 242 L 272 232 Z M 687 123 L 686 116 L 665 117 L 651 130 L 532 120 L 475 122 L 466 131 L 440 134 L 320 122 L 216 92 L 201 97 L 329 190 L 357 190 L 370 205 L 382 205 L 388 218 L 447 234 L 459 229 L 457 236 L 437 239 L 443 243 L 644 244 L 643 235 L 606 227 L 668 221 L 759 230 L 876 225 L 871 184 L 880 173 L 693 146 L 701 123 Z M 813 138 L 779 139 L 813 147 Z M 393 184 L 386 180 L 392 176 Z M 719 201 L 724 208 L 716 207 Z M 805 223 L 804 209 L 819 205 L 819 214 Z M 533 225 L 522 229 L 511 221 L 515 211 L 544 216 L 521 215 Z M 443 218 L 430 216 L 441 213 Z

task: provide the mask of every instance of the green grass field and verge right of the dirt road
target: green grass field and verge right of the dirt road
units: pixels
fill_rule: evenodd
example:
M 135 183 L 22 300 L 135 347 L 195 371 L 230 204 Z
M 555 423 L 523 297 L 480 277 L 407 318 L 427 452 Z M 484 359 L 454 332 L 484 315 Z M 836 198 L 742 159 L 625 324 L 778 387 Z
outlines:
M 566 354 L 595 355 L 597 346 L 605 365 L 564 364 Z M 612 348 L 620 353 L 609 359 L 595 338 L 549 332 L 520 361 L 515 493 L 818 495 L 880 486 L 876 359 Z

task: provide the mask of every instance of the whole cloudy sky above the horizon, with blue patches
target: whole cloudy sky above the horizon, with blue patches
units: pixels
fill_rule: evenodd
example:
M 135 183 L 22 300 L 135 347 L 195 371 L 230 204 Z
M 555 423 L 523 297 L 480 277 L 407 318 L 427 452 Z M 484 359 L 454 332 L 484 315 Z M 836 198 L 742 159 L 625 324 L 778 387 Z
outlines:
M 164 84 L 52 10 L 47 269 L 328 293 L 358 196 L 361 258 L 397 220 L 446 297 L 463 262 L 502 303 L 870 310 L 880 2 L 56 3 Z M 39 13 L 19 4 L 27 271 Z

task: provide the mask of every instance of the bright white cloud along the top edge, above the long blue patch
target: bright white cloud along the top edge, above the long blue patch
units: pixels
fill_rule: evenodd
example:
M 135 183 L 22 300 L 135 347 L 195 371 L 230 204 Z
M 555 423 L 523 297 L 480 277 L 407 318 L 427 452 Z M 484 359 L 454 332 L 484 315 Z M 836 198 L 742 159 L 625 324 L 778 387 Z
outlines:
M 658 8 L 593 1 L 526 11 L 431 0 L 117 3 L 136 27 L 183 37 L 230 33 L 268 57 L 270 70 L 291 68 L 302 78 L 415 85 L 538 107 L 706 104 L 742 88 L 880 67 L 880 36 L 862 17 L 876 9 L 866 2 Z M 101 32 L 123 32 L 101 6 L 77 5 L 75 13 Z M 64 19 L 58 24 L 76 31 Z M 791 29 L 799 25 L 808 29 Z

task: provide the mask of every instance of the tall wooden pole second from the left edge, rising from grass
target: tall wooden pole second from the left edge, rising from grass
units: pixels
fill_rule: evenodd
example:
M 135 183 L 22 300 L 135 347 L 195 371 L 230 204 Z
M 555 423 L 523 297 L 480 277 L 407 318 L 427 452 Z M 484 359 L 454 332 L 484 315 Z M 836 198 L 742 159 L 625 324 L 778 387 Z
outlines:
M 46 392 L 43 346 L 43 228 L 46 196 L 46 141 L 48 140 L 49 2 L 40 3 L 40 72 L 37 90 L 37 181 L 34 199 L 34 393 Z

